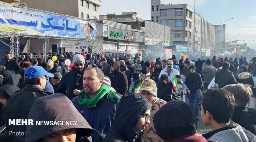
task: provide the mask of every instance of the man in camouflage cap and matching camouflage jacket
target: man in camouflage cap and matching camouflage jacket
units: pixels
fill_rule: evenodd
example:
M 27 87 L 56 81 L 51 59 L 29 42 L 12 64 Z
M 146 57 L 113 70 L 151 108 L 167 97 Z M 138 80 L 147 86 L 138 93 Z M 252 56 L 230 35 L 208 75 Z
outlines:
M 140 87 L 140 93 L 152 103 L 151 116 L 149 121 L 153 122 L 154 114 L 164 104 L 166 104 L 166 101 L 156 97 L 157 95 L 156 82 L 152 79 L 145 79 L 142 81 L 142 84 Z M 159 137 L 156 134 L 156 129 L 154 128 L 154 124 L 150 123 L 145 129 L 142 142 L 164 142 L 164 140 L 162 140 L 161 137 Z

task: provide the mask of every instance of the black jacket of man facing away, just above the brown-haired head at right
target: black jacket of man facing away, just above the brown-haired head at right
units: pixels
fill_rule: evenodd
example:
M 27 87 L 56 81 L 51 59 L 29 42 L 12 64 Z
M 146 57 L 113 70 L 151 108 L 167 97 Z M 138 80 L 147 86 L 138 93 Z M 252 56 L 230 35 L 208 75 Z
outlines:
M 222 69 L 216 72 L 215 83 L 218 83 L 218 88 L 223 88 L 226 85 L 237 84 L 238 82 L 236 81 L 233 72 Z

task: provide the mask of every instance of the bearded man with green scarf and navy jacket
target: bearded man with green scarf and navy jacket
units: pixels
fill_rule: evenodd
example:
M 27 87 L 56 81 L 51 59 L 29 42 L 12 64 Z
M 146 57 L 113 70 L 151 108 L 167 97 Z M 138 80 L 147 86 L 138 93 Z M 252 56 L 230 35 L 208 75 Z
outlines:
M 116 105 L 120 97 L 103 84 L 104 73 L 100 68 L 88 68 L 83 74 L 83 90 L 71 101 L 78 112 L 94 128 L 93 142 L 102 142 L 112 126 Z

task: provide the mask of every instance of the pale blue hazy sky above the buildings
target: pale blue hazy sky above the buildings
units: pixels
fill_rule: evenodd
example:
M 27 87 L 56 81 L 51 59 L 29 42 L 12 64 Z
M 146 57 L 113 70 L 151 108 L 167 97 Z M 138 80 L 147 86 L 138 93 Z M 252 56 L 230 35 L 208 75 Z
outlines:
M 151 0 L 102 0 L 100 15 L 107 13 L 137 12 L 138 17 L 149 20 Z M 162 4 L 188 4 L 194 9 L 194 0 L 161 0 Z M 195 9 L 213 25 L 226 24 L 226 42 L 239 40 L 256 49 L 256 0 L 196 0 Z M 238 36 L 237 36 L 238 35 Z M 253 41 L 254 40 L 254 41 Z

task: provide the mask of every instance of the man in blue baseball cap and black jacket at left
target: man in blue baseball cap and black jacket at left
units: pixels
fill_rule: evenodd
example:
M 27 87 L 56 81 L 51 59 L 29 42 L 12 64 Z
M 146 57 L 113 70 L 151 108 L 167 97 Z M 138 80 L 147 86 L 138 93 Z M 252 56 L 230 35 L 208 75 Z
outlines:
M 26 125 L 17 125 L 17 123 L 9 123 L 9 121 L 28 119 L 28 113 L 37 98 L 48 95 L 43 89 L 45 88 L 48 77 L 54 77 L 53 74 L 47 73 L 40 66 L 28 67 L 25 71 L 25 78 L 27 85 L 21 90 L 15 92 L 9 98 L 6 111 L 6 129 L 8 135 L 8 142 L 24 142 L 25 135 L 14 135 L 17 132 L 25 133 Z M 9 125 L 10 124 L 10 125 Z M 12 133 L 10 133 L 12 132 Z

